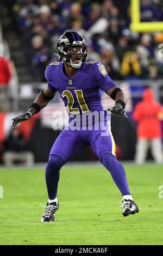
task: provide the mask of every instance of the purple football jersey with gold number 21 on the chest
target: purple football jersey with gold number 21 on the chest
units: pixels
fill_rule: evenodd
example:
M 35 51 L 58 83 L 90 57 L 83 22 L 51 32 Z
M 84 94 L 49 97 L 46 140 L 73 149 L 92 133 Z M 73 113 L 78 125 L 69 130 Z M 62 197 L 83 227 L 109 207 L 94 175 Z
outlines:
M 103 112 L 101 90 L 107 92 L 116 84 L 108 76 L 104 65 L 100 62 L 86 62 L 74 76 L 68 77 L 63 71 L 63 62 L 54 62 L 47 66 L 45 77 L 48 89 L 58 91 L 70 115 L 83 116 L 92 112 Z M 108 113 L 110 117 L 110 113 Z

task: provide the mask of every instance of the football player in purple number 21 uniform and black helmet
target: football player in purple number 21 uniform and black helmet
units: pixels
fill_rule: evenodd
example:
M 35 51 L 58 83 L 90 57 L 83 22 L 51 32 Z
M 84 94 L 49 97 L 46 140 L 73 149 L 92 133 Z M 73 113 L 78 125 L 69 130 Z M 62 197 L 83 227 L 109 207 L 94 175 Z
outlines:
M 41 221 L 54 221 L 55 212 L 59 208 L 57 188 L 60 169 L 74 157 L 74 154 L 78 154 L 87 145 L 91 145 L 98 159 L 109 170 L 112 179 L 122 193 L 123 216 L 135 214 L 139 212 L 139 209 L 131 197 L 125 170 L 116 159 L 115 142 L 110 128 L 111 112 L 127 117 L 123 110 L 127 102 L 126 97 L 108 76 L 101 63 L 87 62 L 87 45 L 79 33 L 65 32 L 61 35 L 57 43 L 57 51 L 60 62 L 51 63 L 46 68 L 47 87 L 37 95 L 28 112 L 12 119 L 13 127 L 21 121 L 28 120 L 32 115 L 46 107 L 57 91 L 70 115 L 68 128 L 65 127 L 60 133 L 49 154 L 46 166 L 48 203 L 45 206 L 46 209 Z M 101 90 L 115 100 L 115 106 L 108 111 L 103 109 Z M 95 129 L 97 120 L 89 119 L 92 120 L 92 124 L 89 121 L 82 124 L 85 125 L 86 129 L 71 129 L 74 118 L 78 121 L 84 115 L 90 117 L 95 111 L 99 113 L 98 122 L 103 122 L 105 126 Z M 101 121 L 101 114 L 103 114 L 103 121 Z M 91 125 L 92 129 L 90 129 Z M 87 129 L 88 127 L 89 129 Z M 105 136 L 102 134 L 103 131 L 106 132 Z

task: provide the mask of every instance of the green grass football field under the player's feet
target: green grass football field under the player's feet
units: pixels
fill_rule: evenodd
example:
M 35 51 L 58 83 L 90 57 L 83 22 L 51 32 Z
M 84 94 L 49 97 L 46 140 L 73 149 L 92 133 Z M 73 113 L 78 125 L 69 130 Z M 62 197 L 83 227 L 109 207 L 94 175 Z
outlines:
M 126 165 L 140 212 L 123 217 L 121 194 L 103 167 L 63 167 L 55 222 L 41 223 L 45 170 L 2 169 L 1 245 L 163 245 L 163 167 Z

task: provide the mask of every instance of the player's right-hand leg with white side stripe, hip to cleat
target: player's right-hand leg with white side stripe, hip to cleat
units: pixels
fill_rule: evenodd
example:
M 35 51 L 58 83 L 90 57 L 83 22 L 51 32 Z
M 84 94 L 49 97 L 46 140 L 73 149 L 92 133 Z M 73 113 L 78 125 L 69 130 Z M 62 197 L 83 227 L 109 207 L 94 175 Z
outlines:
M 130 195 L 126 172 L 122 164 L 116 159 L 115 142 L 109 124 L 107 125 L 106 130 L 108 131 L 106 136 L 102 136 L 100 130 L 91 131 L 90 144 L 98 156 L 98 159 L 102 162 L 105 168 L 109 170 L 112 179 L 122 194 L 124 208 L 123 215 L 128 216 L 129 214 L 135 214 L 139 209 Z

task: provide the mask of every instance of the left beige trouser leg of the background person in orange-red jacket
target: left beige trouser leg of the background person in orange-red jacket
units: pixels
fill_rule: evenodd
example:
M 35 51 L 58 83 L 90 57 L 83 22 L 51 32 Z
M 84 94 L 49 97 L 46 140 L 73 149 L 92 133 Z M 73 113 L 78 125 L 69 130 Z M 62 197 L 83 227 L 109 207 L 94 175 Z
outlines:
M 137 164 L 142 164 L 145 162 L 148 151 L 148 139 L 140 138 L 136 143 L 136 154 L 135 154 L 135 162 Z

